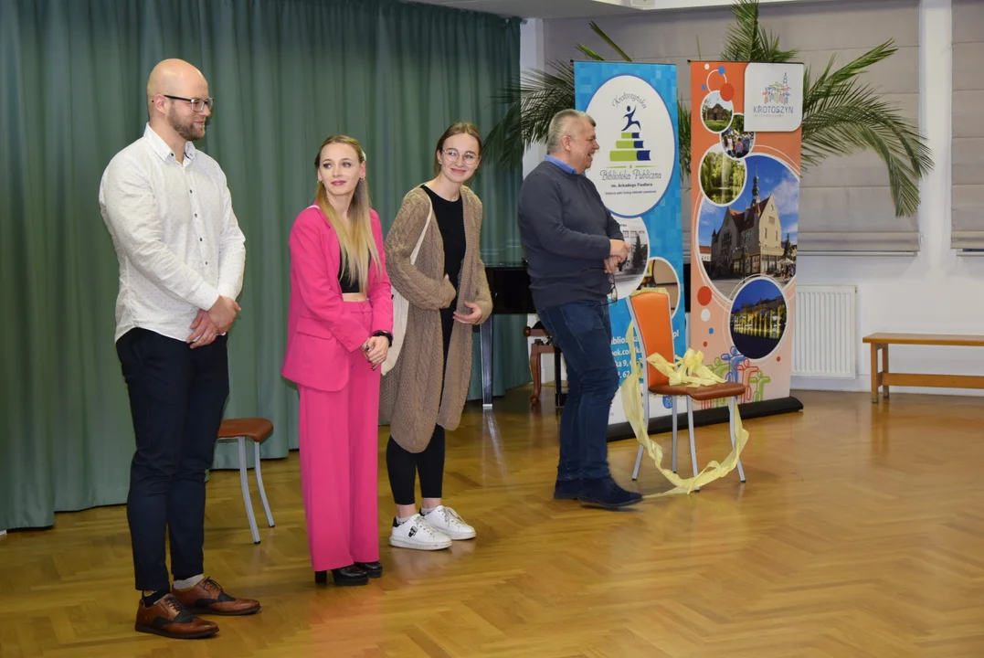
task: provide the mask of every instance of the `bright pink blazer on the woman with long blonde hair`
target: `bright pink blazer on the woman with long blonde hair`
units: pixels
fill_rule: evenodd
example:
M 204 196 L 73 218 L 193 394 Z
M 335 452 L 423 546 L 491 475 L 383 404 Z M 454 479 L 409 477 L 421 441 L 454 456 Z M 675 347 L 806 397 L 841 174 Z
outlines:
M 341 299 L 338 285 L 338 236 L 317 206 L 301 210 L 290 229 L 290 308 L 287 312 L 287 349 L 280 374 L 320 390 L 343 389 L 348 383 L 350 352 L 362 348 L 373 331 L 393 331 L 393 292 L 386 272 L 383 227 L 379 214 L 369 211 L 376 249 L 383 266 L 369 269 L 367 297 L 372 326 L 365 329 Z M 368 364 L 367 364 L 368 366 Z

